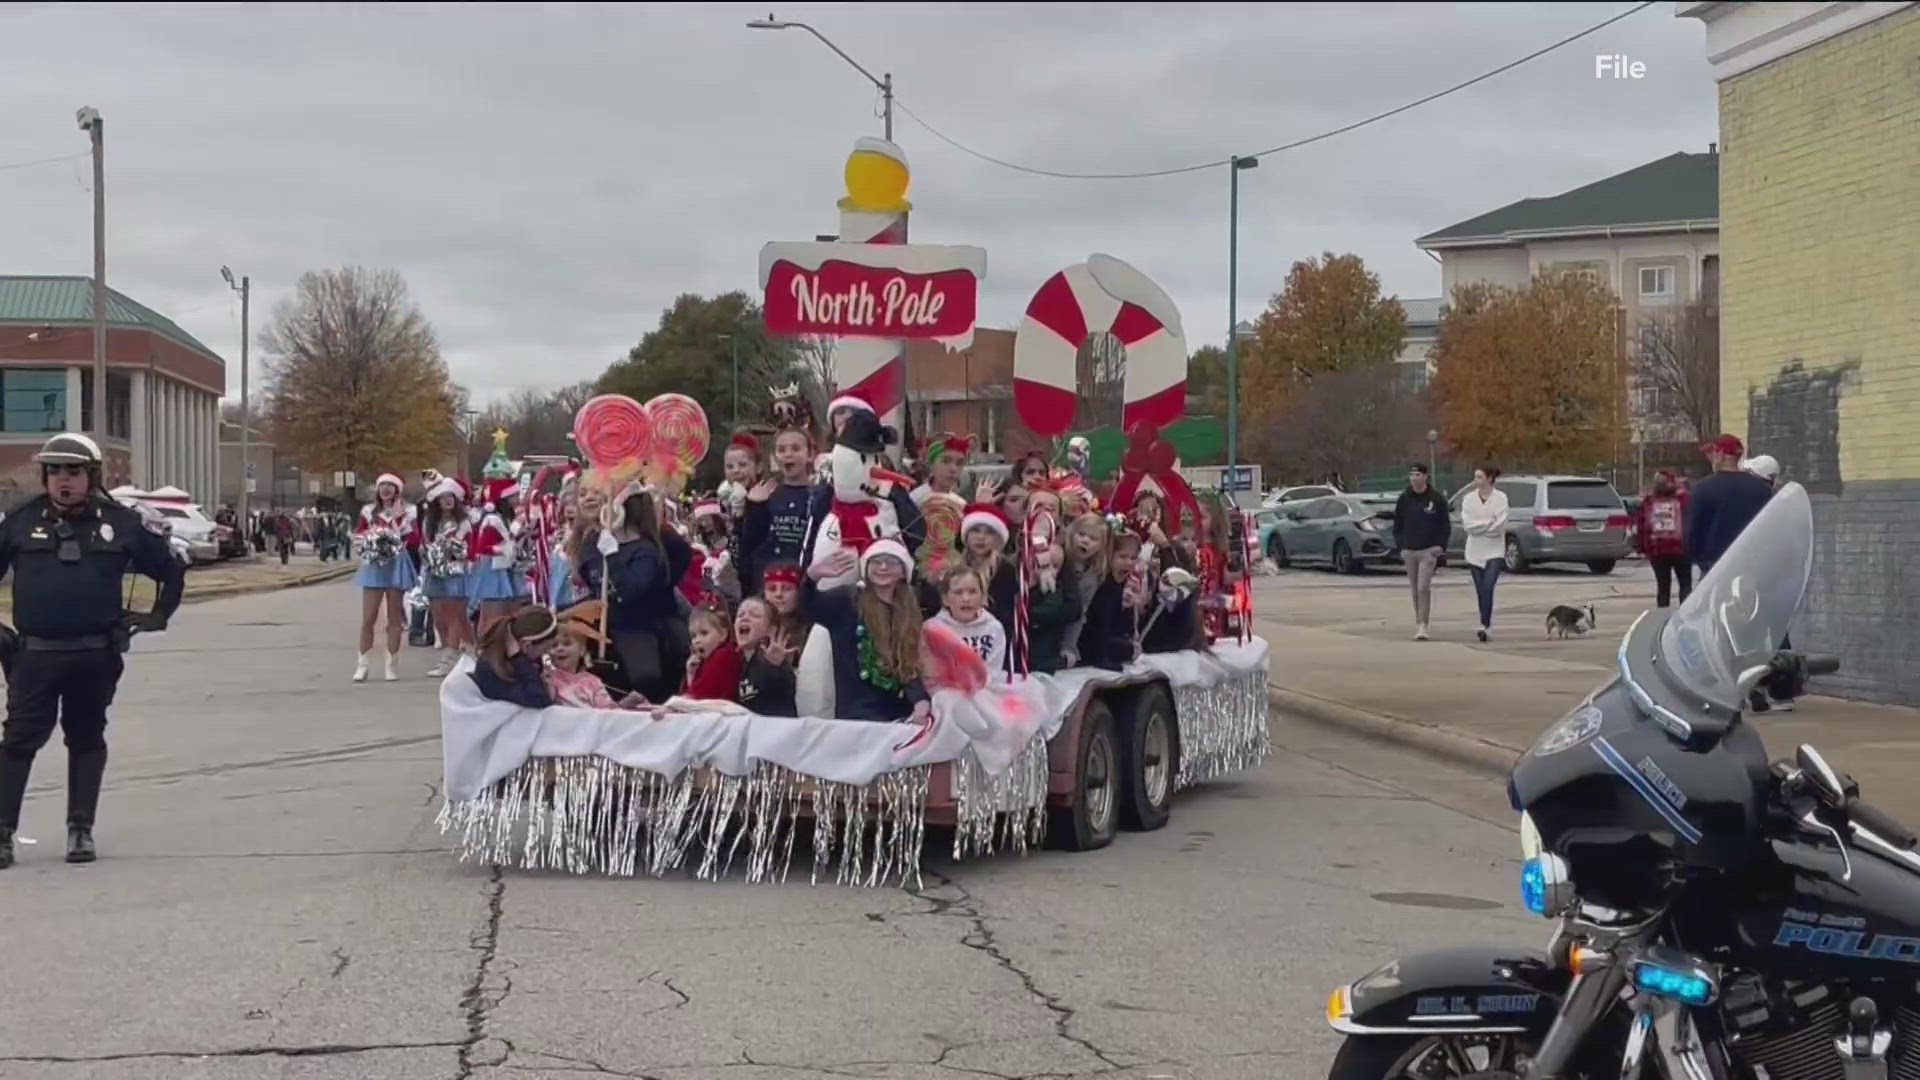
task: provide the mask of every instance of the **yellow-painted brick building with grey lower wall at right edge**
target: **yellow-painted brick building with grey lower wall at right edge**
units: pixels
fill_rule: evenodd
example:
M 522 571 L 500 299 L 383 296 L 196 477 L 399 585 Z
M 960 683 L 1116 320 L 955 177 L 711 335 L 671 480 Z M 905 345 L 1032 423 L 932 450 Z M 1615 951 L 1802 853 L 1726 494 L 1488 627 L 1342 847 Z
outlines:
M 1920 701 L 1920 6 L 1680 4 L 1720 94 L 1720 415 L 1814 498 L 1822 686 Z M 1801 638 L 1795 638 L 1801 644 Z

